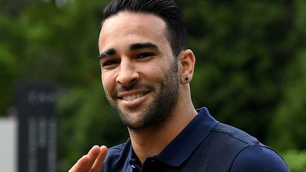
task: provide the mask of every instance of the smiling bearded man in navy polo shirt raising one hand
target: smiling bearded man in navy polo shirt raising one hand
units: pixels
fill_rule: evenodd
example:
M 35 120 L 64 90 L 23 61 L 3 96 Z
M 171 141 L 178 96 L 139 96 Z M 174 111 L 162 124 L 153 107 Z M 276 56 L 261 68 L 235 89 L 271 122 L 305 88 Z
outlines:
M 289 171 L 257 139 L 196 110 L 196 59 L 172 0 L 113 0 L 98 40 L 101 78 L 130 139 L 93 147 L 70 171 Z

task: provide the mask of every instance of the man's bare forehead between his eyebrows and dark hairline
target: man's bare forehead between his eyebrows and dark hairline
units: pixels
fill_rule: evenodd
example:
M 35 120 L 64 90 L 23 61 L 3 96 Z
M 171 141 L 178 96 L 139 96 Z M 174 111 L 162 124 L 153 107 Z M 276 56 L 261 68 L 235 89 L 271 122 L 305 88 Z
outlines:
M 118 45 L 118 42 L 169 43 L 166 38 L 166 23 L 157 16 L 147 13 L 120 12 L 104 21 L 98 46 L 99 49 Z

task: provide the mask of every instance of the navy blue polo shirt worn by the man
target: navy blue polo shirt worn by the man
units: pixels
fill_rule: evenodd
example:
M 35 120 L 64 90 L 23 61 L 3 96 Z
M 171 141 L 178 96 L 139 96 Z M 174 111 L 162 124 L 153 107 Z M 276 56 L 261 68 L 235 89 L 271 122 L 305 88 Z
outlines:
M 108 149 L 102 171 L 290 171 L 283 158 L 246 132 L 198 110 L 164 150 L 140 164 L 130 139 Z

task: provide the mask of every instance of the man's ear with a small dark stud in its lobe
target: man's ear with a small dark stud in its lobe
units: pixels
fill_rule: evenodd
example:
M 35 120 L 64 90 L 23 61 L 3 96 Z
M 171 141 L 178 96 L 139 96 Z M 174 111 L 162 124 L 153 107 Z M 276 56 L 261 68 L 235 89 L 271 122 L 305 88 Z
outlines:
M 180 53 L 178 64 L 181 84 L 188 84 L 193 77 L 196 57 L 193 55 L 191 50 L 185 50 Z

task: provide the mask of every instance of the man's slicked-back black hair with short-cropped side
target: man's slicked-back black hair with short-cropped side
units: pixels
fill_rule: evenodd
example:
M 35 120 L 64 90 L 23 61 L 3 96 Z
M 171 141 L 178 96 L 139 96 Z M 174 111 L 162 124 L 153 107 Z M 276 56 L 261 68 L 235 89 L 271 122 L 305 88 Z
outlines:
M 186 23 L 174 0 L 111 0 L 104 9 L 103 22 L 122 11 L 148 13 L 162 18 L 174 57 L 188 48 Z

